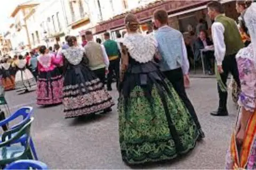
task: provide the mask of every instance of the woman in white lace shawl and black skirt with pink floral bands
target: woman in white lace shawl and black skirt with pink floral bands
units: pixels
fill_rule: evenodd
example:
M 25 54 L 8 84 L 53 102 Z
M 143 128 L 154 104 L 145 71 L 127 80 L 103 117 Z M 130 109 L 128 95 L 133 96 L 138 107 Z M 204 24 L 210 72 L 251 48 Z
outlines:
M 63 105 L 66 118 L 109 112 L 114 101 L 104 84 L 87 66 L 84 49 L 77 46 L 76 37 L 68 38 L 63 54 Z

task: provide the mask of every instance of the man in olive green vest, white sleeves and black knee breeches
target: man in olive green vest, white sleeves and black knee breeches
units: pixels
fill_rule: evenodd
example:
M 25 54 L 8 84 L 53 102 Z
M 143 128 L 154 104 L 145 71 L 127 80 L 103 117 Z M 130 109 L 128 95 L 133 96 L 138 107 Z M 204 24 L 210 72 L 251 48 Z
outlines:
M 212 112 L 213 116 L 227 116 L 227 78 L 229 72 L 233 75 L 240 88 L 239 74 L 236 63 L 236 54 L 244 47 L 236 22 L 225 16 L 220 2 L 212 1 L 207 4 L 208 14 L 212 24 L 212 39 L 216 59 L 215 73 L 218 81 L 219 108 Z

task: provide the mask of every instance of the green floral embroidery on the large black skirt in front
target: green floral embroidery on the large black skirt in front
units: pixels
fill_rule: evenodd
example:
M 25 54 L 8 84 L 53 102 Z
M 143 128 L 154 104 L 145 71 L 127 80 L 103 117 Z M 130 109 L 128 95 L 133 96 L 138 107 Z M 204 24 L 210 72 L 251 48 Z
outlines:
M 143 89 L 136 86 L 131 91 L 127 109 L 123 96 L 118 101 L 119 142 L 123 160 L 129 164 L 172 159 L 195 146 L 198 137 L 195 122 L 171 83 L 166 82 L 172 94 L 169 96 L 165 91 L 166 103 L 182 149 L 177 150 L 175 146 L 156 86 L 151 90 L 151 103 Z

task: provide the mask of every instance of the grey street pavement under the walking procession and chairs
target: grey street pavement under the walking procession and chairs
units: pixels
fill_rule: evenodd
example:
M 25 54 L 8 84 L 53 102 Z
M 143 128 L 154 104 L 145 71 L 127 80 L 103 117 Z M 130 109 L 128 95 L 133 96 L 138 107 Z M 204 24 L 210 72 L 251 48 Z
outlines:
M 218 104 L 215 79 L 191 79 L 191 88 L 187 92 L 206 134 L 205 140 L 182 158 L 136 167 L 122 162 L 116 105 L 106 115 L 65 119 L 62 105 L 37 106 L 35 91 L 23 95 L 9 91 L 6 99 L 12 111 L 21 106 L 35 108 L 33 140 L 39 159 L 51 169 L 223 169 L 236 118 L 235 105 L 229 95 L 229 116 L 210 116 Z M 111 95 L 117 103 L 117 91 L 112 91 Z

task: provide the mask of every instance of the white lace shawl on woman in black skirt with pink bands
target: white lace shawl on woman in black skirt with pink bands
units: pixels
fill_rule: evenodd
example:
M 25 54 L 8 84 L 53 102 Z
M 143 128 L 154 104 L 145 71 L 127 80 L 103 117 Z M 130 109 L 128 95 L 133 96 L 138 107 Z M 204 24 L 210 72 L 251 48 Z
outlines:
M 81 63 L 85 50 L 80 47 L 69 47 L 62 50 L 62 54 L 67 58 L 68 62 L 73 65 Z

